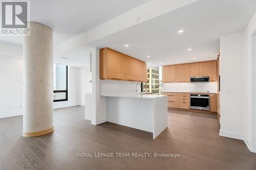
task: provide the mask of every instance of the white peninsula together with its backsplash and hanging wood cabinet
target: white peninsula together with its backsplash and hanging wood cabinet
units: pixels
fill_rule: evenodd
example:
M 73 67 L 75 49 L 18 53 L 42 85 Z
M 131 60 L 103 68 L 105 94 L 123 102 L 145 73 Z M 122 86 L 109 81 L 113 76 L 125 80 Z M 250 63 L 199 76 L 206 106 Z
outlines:
M 167 128 L 167 96 L 143 94 L 146 63 L 110 48 L 100 50 L 100 95 L 106 96 L 106 120 L 153 133 Z

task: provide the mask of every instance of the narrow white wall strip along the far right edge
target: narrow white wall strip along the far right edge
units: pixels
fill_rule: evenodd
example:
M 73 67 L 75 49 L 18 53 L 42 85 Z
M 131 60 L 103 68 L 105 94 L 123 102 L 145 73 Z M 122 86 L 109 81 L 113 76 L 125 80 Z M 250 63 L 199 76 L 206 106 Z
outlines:
M 244 98 L 243 98 L 243 112 L 244 112 L 244 140 L 245 143 L 247 144 L 247 146 L 249 148 L 252 148 L 252 143 L 251 143 L 251 139 L 252 139 L 252 131 L 251 131 L 251 35 L 253 34 L 253 32 L 256 30 L 256 13 L 254 14 L 254 16 L 252 17 L 249 25 L 247 26 L 247 28 L 244 31 L 244 67 L 243 67 L 243 77 L 244 77 Z M 255 67 L 255 66 L 254 66 Z M 254 113 L 255 114 L 255 113 Z M 254 132 L 256 133 L 256 132 Z M 256 135 L 255 135 L 256 137 Z M 255 140 L 254 140 L 255 141 Z M 254 146 L 256 147 L 256 141 L 254 142 Z M 252 149 L 253 150 L 253 149 Z M 254 152 L 256 152 L 256 148 L 254 148 L 253 150 Z

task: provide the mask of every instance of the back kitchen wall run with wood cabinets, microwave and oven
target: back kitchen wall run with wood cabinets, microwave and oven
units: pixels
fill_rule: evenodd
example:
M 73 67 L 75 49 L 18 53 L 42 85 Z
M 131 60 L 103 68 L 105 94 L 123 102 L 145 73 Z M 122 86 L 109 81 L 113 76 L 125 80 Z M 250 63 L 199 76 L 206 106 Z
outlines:
M 168 95 L 168 108 L 217 114 L 218 65 L 210 60 L 163 66 L 161 94 Z

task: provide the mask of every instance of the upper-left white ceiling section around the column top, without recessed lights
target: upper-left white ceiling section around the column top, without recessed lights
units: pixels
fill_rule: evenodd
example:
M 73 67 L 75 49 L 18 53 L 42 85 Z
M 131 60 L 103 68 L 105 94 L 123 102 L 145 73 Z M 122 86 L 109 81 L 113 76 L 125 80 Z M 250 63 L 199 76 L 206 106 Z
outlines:
M 67 41 L 149 0 L 37 0 L 30 1 L 30 19 L 54 32 L 54 44 Z M 0 41 L 22 45 L 22 37 L 0 36 Z

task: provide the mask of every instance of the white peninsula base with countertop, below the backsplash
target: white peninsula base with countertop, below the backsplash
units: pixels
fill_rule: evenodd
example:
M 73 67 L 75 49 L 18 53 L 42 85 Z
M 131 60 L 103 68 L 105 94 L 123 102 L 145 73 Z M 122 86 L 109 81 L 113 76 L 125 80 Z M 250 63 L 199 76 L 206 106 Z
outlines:
M 167 128 L 167 96 L 154 94 L 104 94 L 108 122 L 153 133 Z

